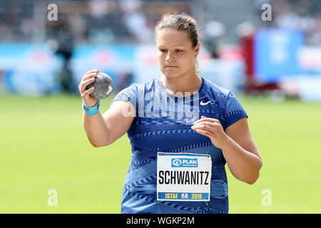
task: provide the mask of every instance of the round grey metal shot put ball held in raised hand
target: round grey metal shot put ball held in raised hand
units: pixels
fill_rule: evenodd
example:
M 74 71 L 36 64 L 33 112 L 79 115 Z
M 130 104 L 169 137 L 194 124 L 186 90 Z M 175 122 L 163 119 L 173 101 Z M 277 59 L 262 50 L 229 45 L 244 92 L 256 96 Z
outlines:
M 105 99 L 113 92 L 113 79 L 106 73 L 97 73 L 96 80 L 87 86 L 87 90 L 91 87 L 95 87 L 95 90 L 91 93 L 93 98 Z

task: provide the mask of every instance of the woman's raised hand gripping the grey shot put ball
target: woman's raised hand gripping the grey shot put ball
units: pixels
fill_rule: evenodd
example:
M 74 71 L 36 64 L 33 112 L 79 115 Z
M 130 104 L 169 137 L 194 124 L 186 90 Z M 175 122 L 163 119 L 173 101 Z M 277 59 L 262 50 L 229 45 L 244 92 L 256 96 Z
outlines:
M 95 81 L 97 73 L 99 73 L 99 70 L 88 71 L 85 76 L 83 76 L 78 86 L 79 92 L 81 93 L 81 98 L 83 98 L 83 103 L 85 103 L 85 105 L 87 105 L 88 107 L 95 105 L 98 100 L 97 98 L 93 98 L 90 95 L 91 93 L 93 93 L 93 90 L 95 90 L 94 87 L 86 90 L 86 87 L 90 83 L 93 83 Z

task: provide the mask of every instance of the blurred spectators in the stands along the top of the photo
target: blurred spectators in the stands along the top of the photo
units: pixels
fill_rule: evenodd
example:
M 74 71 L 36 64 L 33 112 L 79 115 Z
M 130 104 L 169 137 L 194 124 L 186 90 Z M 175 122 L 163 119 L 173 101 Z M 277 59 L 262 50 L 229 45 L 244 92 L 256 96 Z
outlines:
M 321 45 L 320 0 L 248 0 L 250 24 L 255 28 L 296 28 L 305 33 L 307 44 Z M 76 43 L 146 43 L 153 41 L 153 28 L 161 15 L 170 11 L 184 11 L 197 19 L 193 7 L 215 4 L 217 1 L 193 0 L 73 0 L 56 1 L 58 21 L 48 21 L 49 1 L 0 0 L 1 42 L 43 42 L 62 36 L 60 28 L 68 28 Z M 261 19 L 261 6 L 272 6 L 272 21 Z M 206 6 L 203 10 L 206 10 Z M 198 12 L 198 14 L 203 14 Z M 228 32 L 225 21 L 211 16 L 204 25 L 205 36 L 220 37 Z M 229 16 L 233 20 L 233 15 Z

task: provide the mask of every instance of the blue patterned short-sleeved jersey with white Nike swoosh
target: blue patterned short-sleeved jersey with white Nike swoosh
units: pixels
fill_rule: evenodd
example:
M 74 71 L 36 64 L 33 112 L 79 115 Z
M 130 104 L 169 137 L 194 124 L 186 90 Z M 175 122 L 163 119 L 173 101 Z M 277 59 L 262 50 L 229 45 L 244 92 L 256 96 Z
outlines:
M 198 93 L 180 97 L 167 93 L 159 78 L 154 78 L 144 84 L 131 84 L 113 99 L 126 100 L 136 110 L 127 132 L 132 156 L 123 185 L 121 213 L 228 213 L 223 152 L 210 138 L 190 127 L 205 115 L 220 120 L 225 130 L 248 115 L 230 90 L 205 78 L 202 81 Z M 212 157 L 210 201 L 157 201 L 158 151 L 208 153 Z

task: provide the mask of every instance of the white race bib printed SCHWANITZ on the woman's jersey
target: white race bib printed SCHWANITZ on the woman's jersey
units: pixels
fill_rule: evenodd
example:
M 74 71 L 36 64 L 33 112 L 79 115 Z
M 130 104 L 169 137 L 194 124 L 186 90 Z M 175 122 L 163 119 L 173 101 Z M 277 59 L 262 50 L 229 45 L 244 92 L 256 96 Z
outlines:
M 209 201 L 210 155 L 158 152 L 157 200 Z

